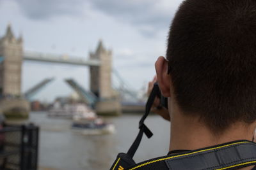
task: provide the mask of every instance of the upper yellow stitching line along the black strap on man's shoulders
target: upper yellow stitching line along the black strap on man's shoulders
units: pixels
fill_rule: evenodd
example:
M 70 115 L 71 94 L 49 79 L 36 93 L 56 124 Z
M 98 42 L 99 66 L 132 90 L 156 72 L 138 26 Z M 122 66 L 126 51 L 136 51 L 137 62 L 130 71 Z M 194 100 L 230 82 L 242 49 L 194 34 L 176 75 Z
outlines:
M 249 143 L 249 142 L 248 142 L 248 141 L 243 141 L 243 142 L 231 143 L 231 144 L 228 144 L 228 145 L 218 146 L 218 147 L 215 147 L 215 148 L 209 148 L 209 149 L 205 149 L 205 150 L 198 150 L 198 151 L 196 151 L 196 152 L 185 153 L 185 154 L 182 154 L 182 155 L 176 155 L 176 156 L 166 157 L 166 158 L 162 158 L 162 159 L 156 159 L 156 160 L 152 160 L 152 161 L 150 161 L 150 162 L 146 162 L 146 163 L 144 163 L 144 164 L 141 164 L 140 166 L 133 167 L 133 168 L 130 169 L 130 170 L 138 169 L 139 167 L 147 166 L 148 164 L 152 164 L 152 163 L 154 163 L 154 162 L 159 162 L 159 161 L 161 161 L 161 160 L 173 159 L 173 158 L 177 158 L 177 157 L 192 155 L 192 154 L 194 154 L 194 153 L 200 153 L 200 152 L 205 152 L 205 151 L 209 151 L 209 150 L 215 150 L 215 149 L 223 148 L 223 147 L 226 147 L 226 146 L 232 146 L 232 145 L 237 145 L 237 144 L 241 144 L 241 143 Z

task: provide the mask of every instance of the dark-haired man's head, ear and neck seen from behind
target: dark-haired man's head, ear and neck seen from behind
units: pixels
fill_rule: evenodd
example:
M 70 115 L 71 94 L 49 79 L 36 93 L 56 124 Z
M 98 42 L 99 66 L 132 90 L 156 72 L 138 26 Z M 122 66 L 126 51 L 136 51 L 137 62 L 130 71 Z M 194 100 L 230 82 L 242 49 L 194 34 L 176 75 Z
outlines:
M 184 1 L 170 28 L 166 59 L 157 59 L 156 73 L 170 108 L 170 151 L 252 141 L 255 0 Z

